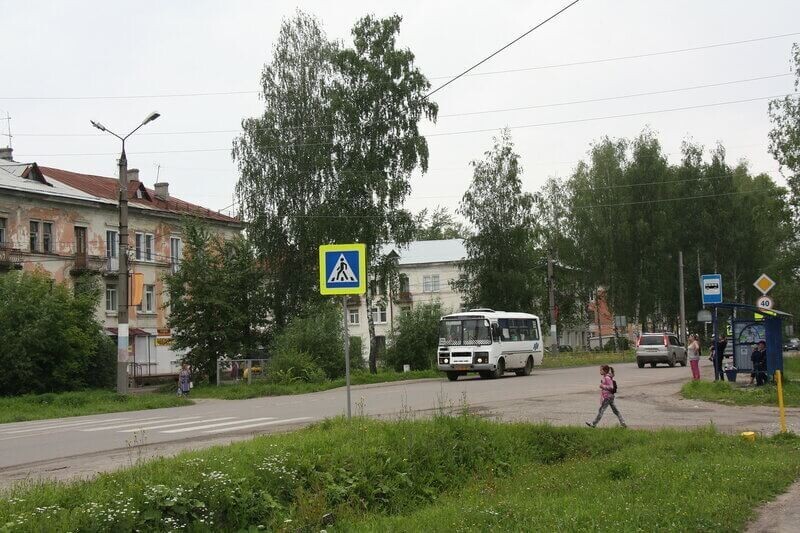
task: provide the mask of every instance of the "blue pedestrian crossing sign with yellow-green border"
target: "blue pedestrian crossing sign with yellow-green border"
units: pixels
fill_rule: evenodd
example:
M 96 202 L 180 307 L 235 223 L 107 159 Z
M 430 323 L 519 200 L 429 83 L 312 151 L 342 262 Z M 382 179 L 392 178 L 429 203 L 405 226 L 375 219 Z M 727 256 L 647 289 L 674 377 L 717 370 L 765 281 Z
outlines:
M 364 294 L 366 273 L 366 245 L 325 244 L 319 247 L 319 292 L 322 294 Z

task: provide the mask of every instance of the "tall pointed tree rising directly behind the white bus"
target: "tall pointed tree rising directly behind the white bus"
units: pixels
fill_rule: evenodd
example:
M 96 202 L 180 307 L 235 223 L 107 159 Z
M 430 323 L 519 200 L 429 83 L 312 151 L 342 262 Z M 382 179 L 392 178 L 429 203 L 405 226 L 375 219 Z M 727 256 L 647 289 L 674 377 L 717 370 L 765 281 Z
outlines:
M 519 155 L 508 130 L 495 138 L 458 212 L 475 228 L 454 288 L 468 306 L 527 311 L 543 296 L 543 258 L 535 248 L 533 195 L 522 191 Z

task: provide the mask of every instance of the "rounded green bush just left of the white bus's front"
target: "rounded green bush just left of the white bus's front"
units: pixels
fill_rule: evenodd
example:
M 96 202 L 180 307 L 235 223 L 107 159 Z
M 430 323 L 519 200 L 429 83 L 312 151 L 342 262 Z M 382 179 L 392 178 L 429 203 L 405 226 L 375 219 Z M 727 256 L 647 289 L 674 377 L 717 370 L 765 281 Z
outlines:
M 439 319 L 444 314 L 440 302 L 418 304 L 402 313 L 384 356 L 386 366 L 397 371 L 403 365 L 411 365 L 413 370 L 433 368 L 439 344 Z

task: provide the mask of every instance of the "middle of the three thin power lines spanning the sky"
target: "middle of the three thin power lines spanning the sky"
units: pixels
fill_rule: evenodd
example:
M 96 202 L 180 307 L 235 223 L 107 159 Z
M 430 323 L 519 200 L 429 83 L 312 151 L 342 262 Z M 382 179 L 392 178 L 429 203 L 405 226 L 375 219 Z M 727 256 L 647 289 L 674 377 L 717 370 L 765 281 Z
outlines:
M 505 113 L 509 111 L 524 111 L 529 109 L 546 109 L 550 107 L 563 107 L 568 105 L 576 105 L 576 104 L 588 104 L 588 103 L 595 103 L 595 102 L 607 102 L 610 100 L 624 100 L 627 98 L 637 98 L 641 96 L 654 96 L 659 94 L 671 94 L 683 91 L 692 91 L 697 89 L 708 89 L 711 87 L 723 87 L 726 85 L 735 85 L 739 83 L 750 83 L 754 81 L 761 81 L 761 80 L 769 80 L 769 79 L 776 79 L 776 78 L 785 78 L 788 76 L 793 76 L 792 73 L 781 73 L 781 74 L 770 74 L 767 76 L 757 76 L 754 78 L 744 78 L 740 80 L 729 80 L 729 81 L 722 81 L 716 83 L 707 83 L 702 85 L 691 85 L 688 87 L 677 87 L 673 89 L 662 89 L 659 91 L 648 91 L 648 92 L 640 92 L 640 93 L 632 93 L 632 94 L 624 94 L 618 96 L 605 96 L 600 98 L 590 98 L 585 100 L 571 100 L 567 102 L 554 102 L 549 104 L 537 104 L 531 106 L 520 106 L 520 107 L 507 107 L 502 109 L 487 109 L 482 111 L 465 111 L 461 113 L 450 113 L 447 115 L 439 115 L 438 118 L 450 118 L 450 117 L 463 117 L 463 116 L 471 116 L 471 115 L 484 115 L 489 113 Z M 360 123 L 359 123 L 360 124 Z M 332 128 L 334 124 L 312 124 L 308 126 L 289 126 L 286 128 L 277 128 L 277 131 L 290 131 L 290 130 L 305 130 L 305 129 L 322 129 L 322 128 Z M 157 135 L 205 135 L 205 134 L 219 134 L 219 133 L 241 133 L 241 129 L 237 130 L 194 130 L 194 131 L 163 131 L 163 132 L 146 132 L 140 133 L 139 136 L 157 136 Z M 14 134 L 16 137 L 103 137 L 101 133 L 16 133 Z

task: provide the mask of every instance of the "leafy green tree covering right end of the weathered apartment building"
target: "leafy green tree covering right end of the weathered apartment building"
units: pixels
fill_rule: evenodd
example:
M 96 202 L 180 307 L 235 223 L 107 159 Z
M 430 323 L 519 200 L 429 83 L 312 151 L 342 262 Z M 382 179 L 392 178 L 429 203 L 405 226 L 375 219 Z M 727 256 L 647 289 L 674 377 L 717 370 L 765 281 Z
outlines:
M 183 239 L 180 269 L 165 277 L 173 346 L 188 350 L 187 361 L 213 380 L 218 358 L 249 356 L 264 342 L 265 273 L 240 235 L 223 239 L 187 221 Z

